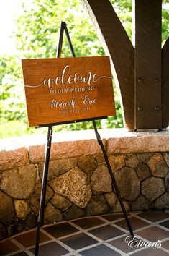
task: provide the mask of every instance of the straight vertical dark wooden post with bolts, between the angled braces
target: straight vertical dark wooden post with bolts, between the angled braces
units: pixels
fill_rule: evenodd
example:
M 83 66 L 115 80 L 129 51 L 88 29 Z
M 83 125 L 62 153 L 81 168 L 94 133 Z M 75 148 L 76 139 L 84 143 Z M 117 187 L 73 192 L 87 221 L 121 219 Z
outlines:
M 135 129 L 162 128 L 161 0 L 135 1 Z

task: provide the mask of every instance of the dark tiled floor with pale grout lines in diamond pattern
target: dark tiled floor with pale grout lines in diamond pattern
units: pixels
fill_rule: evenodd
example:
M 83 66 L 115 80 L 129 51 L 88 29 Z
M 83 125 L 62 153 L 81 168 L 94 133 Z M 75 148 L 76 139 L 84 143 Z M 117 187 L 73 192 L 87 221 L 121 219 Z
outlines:
M 169 213 L 128 213 L 135 240 L 130 238 L 123 214 L 80 218 L 43 226 L 40 256 L 167 256 Z M 34 255 L 36 230 L 0 242 L 0 255 Z M 161 244 L 161 246 L 160 246 Z

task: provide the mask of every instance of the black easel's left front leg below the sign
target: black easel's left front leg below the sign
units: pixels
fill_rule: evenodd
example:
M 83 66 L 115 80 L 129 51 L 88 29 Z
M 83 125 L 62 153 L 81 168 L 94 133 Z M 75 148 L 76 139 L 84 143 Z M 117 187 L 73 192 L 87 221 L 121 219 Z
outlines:
M 44 170 L 43 170 L 43 177 L 42 177 L 42 189 L 41 189 L 41 196 L 40 196 L 40 210 L 39 210 L 38 224 L 37 224 L 37 239 L 36 239 L 36 245 L 35 245 L 35 256 L 38 255 L 38 251 L 39 251 L 40 228 L 42 226 L 43 216 L 44 216 L 45 196 L 46 196 L 46 187 L 47 187 L 47 173 L 48 173 L 49 162 L 50 162 L 51 142 L 52 142 L 52 127 L 48 127 L 47 144 L 46 144 L 46 149 L 45 149 L 45 163 L 44 163 Z

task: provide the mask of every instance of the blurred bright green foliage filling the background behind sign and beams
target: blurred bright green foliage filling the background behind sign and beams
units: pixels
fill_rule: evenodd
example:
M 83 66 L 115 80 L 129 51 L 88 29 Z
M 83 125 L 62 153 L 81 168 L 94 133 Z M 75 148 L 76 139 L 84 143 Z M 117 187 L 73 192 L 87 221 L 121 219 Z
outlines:
M 168 0 L 163 1 L 162 44 L 168 38 Z M 119 19 L 132 40 L 132 0 L 111 0 Z M 12 36 L 17 54 L 1 55 L 0 65 L 0 138 L 46 132 L 28 128 L 21 59 L 53 58 L 56 55 L 60 22 L 65 21 L 76 56 L 104 56 L 104 50 L 80 0 L 23 1 L 22 13 L 16 18 Z M 70 56 L 66 38 L 63 57 Z M 116 116 L 96 121 L 98 128 L 123 127 L 122 108 L 114 85 Z M 59 130 L 92 129 L 90 121 L 55 127 Z

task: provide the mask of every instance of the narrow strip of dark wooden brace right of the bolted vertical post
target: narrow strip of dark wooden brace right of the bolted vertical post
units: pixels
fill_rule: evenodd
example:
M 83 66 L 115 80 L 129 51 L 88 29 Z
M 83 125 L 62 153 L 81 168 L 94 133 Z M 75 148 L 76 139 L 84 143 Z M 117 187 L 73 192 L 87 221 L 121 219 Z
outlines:
M 162 49 L 162 121 L 163 128 L 169 126 L 169 38 Z

